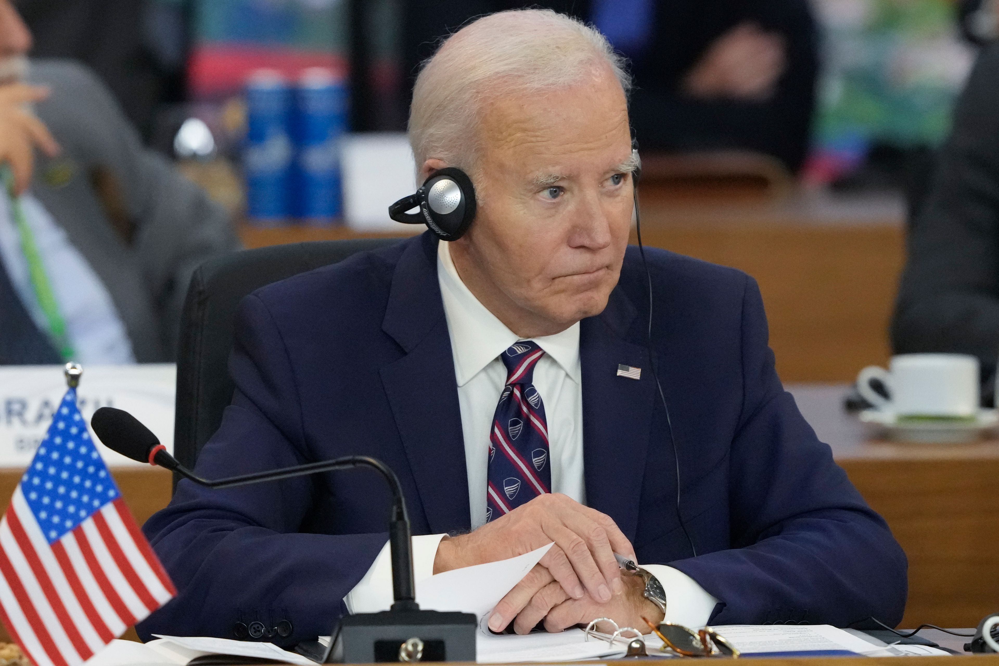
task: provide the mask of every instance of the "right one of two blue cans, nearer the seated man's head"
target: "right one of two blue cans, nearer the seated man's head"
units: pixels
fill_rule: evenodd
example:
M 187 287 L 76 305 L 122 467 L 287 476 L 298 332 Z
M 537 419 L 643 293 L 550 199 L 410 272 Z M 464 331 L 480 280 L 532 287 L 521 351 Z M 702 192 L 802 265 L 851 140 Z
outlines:
M 295 89 L 296 217 L 330 225 L 343 215 L 340 142 L 347 130 L 347 84 L 326 68 L 305 70 Z

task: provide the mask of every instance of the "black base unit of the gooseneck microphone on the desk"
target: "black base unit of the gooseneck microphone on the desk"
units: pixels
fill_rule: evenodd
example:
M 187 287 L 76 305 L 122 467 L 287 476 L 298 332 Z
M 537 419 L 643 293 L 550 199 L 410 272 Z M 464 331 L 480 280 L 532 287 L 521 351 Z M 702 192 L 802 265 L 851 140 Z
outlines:
M 475 662 L 478 627 L 472 613 L 436 610 L 359 613 L 340 620 L 330 647 L 311 641 L 299 644 L 296 649 L 314 661 L 327 664 Z M 406 645 L 420 646 L 420 653 L 413 650 L 407 653 Z

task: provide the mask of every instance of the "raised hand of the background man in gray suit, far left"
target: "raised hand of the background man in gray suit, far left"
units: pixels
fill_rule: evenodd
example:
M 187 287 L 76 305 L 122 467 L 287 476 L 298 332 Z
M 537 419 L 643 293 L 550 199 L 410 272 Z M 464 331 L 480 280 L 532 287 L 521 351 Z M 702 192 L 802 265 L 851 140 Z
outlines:
M 36 146 L 49 157 L 59 154 L 59 144 L 48 128 L 27 108 L 48 96 L 47 88 L 24 83 L 0 86 L 0 164 L 9 164 L 14 172 L 15 195 L 23 193 L 31 183 Z

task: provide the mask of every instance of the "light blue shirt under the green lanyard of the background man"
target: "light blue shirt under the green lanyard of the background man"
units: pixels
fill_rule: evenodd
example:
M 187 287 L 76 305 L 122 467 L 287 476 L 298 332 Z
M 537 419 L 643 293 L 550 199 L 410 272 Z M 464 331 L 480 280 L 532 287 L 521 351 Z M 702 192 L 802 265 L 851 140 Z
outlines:
M 59 313 L 66 323 L 66 334 L 74 360 L 81 363 L 117 365 L 134 363 L 132 341 L 118 316 L 111 295 L 94 269 L 80 254 L 66 232 L 49 215 L 42 203 L 30 194 L 21 196 L 21 210 L 35 237 L 45 274 Z M 48 321 L 38 305 L 31 286 L 28 261 L 21 251 L 21 239 L 14 223 L 10 199 L 0 194 L 0 260 L 18 298 L 39 331 L 49 330 Z

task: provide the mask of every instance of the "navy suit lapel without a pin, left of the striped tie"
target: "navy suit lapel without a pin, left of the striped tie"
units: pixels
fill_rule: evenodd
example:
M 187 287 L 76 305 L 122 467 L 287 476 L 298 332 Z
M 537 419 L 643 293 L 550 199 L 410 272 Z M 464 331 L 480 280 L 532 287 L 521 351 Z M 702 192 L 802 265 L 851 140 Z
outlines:
M 462 413 L 430 232 L 400 259 L 382 329 L 407 352 L 381 369 L 382 383 L 431 531 L 469 529 Z

